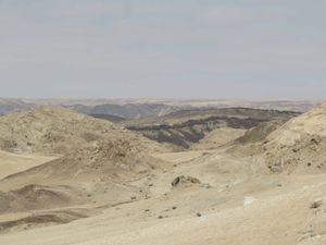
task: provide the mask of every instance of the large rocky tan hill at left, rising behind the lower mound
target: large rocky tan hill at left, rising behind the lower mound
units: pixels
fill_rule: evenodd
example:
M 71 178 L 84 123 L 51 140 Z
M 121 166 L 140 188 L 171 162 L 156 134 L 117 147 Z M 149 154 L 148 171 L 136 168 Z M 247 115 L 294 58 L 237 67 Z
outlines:
M 108 121 L 60 107 L 42 106 L 34 111 L 0 117 L 2 150 L 64 155 L 103 139 L 124 139 L 146 150 L 164 148 Z

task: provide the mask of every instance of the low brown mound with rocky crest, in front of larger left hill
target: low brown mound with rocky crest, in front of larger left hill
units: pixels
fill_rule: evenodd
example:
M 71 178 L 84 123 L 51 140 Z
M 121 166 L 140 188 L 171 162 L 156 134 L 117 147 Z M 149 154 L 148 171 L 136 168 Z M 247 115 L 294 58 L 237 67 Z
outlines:
M 161 162 L 128 140 L 106 139 L 72 150 L 61 158 L 24 172 L 9 175 L 0 181 L 0 186 L 13 188 L 28 184 L 78 185 L 89 182 L 130 181 L 160 168 Z

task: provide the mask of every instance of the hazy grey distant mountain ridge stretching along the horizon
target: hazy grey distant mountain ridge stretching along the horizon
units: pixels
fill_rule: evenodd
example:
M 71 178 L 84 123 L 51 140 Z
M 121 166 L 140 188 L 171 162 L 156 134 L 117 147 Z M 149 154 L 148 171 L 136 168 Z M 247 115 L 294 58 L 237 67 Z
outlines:
M 61 106 L 86 114 L 114 115 L 123 119 L 165 115 L 185 109 L 246 107 L 253 109 L 306 112 L 317 100 L 174 100 L 174 99 L 10 99 L 0 98 L 0 114 L 36 109 L 41 105 Z

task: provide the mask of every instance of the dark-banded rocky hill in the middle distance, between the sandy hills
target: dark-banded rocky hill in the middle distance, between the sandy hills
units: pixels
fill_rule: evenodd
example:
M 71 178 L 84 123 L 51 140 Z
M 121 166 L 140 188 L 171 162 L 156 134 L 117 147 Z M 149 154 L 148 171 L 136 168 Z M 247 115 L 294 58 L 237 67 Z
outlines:
M 159 118 L 125 121 L 122 125 L 159 143 L 189 148 L 216 128 L 248 130 L 263 122 L 274 120 L 285 122 L 299 114 L 248 108 L 198 109 L 177 111 Z

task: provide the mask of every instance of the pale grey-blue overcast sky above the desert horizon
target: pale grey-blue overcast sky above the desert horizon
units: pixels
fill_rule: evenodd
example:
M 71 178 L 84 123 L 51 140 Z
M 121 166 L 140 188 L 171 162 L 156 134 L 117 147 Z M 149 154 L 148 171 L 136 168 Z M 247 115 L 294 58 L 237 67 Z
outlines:
M 0 97 L 324 99 L 325 0 L 0 0 Z

